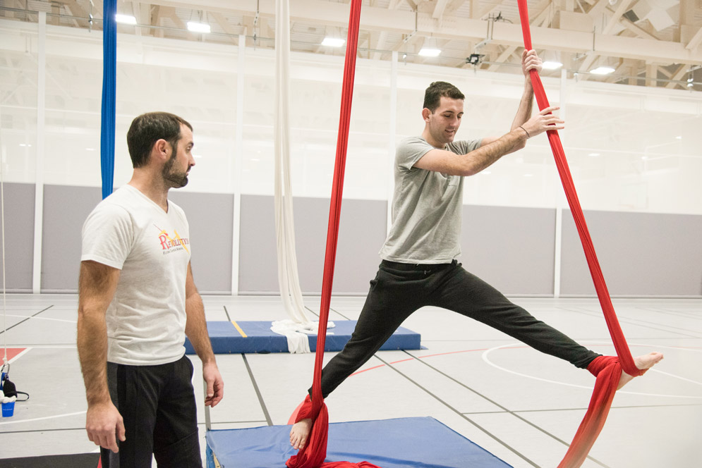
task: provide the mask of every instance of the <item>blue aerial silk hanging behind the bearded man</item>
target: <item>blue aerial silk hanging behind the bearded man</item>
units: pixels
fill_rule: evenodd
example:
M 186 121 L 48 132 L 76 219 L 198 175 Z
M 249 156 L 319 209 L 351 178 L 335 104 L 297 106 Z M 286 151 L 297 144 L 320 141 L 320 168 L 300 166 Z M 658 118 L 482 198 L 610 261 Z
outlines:
M 104 0 L 102 10 L 102 126 L 100 167 L 102 198 L 112 193 L 114 181 L 114 114 L 117 68 L 117 0 Z

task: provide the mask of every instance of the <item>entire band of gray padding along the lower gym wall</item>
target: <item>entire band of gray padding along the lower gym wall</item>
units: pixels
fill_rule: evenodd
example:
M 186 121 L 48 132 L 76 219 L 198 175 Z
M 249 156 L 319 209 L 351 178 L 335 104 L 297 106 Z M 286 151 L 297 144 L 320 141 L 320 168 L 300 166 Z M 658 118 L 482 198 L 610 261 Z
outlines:
M 32 184 L 5 184 L 9 291 L 32 288 L 34 192 Z M 171 199 L 190 221 L 198 288 L 202 293 L 229 293 L 234 195 L 173 190 Z M 99 200 L 98 187 L 44 187 L 42 291 L 77 290 L 80 228 Z M 298 197 L 294 207 L 301 288 L 318 294 L 329 200 Z M 385 240 L 386 209 L 384 201 L 344 200 L 334 294 L 368 291 Z M 273 197 L 241 197 L 240 293 L 279 292 L 273 211 Z M 552 295 L 554 209 L 466 205 L 463 215 L 461 262 L 468 271 L 507 295 Z M 612 295 L 702 295 L 702 216 L 586 211 L 586 220 Z M 594 295 L 567 210 L 562 233 L 562 295 Z

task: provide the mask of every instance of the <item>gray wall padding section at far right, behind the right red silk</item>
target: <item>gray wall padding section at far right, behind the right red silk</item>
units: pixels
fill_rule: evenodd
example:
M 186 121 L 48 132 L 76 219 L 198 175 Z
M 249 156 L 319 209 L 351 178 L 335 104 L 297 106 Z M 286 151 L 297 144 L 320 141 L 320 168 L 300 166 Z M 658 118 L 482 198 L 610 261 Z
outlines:
M 586 211 L 612 295 L 702 295 L 702 216 Z M 563 213 L 561 293 L 595 295 L 569 210 Z

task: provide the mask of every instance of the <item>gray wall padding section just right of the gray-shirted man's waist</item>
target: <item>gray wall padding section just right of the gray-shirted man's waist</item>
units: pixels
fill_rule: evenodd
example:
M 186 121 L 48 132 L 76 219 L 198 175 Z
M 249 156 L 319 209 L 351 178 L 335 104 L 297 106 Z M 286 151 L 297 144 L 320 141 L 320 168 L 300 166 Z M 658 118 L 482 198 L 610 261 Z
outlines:
M 555 209 L 464 205 L 461 262 L 506 295 L 552 295 Z

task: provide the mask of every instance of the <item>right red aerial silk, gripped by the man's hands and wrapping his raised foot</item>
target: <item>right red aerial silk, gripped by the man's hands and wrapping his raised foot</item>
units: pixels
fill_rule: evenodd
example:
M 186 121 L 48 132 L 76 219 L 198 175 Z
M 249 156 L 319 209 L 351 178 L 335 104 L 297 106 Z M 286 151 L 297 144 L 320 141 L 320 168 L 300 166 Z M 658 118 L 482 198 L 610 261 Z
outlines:
M 517 0 L 517 3 L 519 4 L 521 30 L 524 34 L 524 48 L 530 50 L 532 48 L 531 31 L 529 30 L 529 16 L 526 0 Z M 539 109 L 543 110 L 549 106 L 543 84 L 536 70 L 530 70 L 529 73 L 531 75 L 531 84 L 534 88 L 536 102 L 538 103 Z M 595 247 L 593 247 L 593 242 L 588 232 L 588 226 L 585 223 L 585 216 L 583 216 L 583 210 L 580 207 L 578 194 L 575 191 L 573 178 L 568 168 L 568 161 L 563 152 L 563 146 L 558 132 L 557 130 L 548 130 L 547 136 L 551 144 L 558 173 L 561 176 L 561 182 L 563 183 L 563 189 L 565 190 L 568 204 L 570 205 L 576 227 L 578 228 L 583 250 L 585 250 L 585 257 L 588 261 L 590 274 L 593 277 L 593 283 L 595 283 L 595 290 L 600 300 L 600 306 L 605 315 L 607 328 L 610 330 L 612 342 L 615 345 L 615 350 L 617 350 L 617 357 L 598 357 L 588 366 L 588 370 L 597 377 L 593 396 L 588 406 L 588 412 L 580 423 L 580 427 L 565 457 L 558 465 L 558 468 L 575 468 L 583 464 L 588 456 L 590 448 L 595 443 L 597 436 L 600 434 L 605 424 L 607 413 L 610 411 L 610 406 L 612 405 L 612 399 L 617 391 L 617 383 L 619 383 L 619 376 L 622 374 L 622 369 L 631 376 L 640 376 L 644 371 L 638 369 L 636 364 L 634 364 L 634 358 L 631 357 L 629 345 L 627 345 L 627 340 L 624 338 L 622 328 L 619 326 L 614 306 L 612 306 L 612 300 L 610 300 L 610 293 L 607 291 L 605 278 L 600 269 L 597 255 L 595 254 Z

